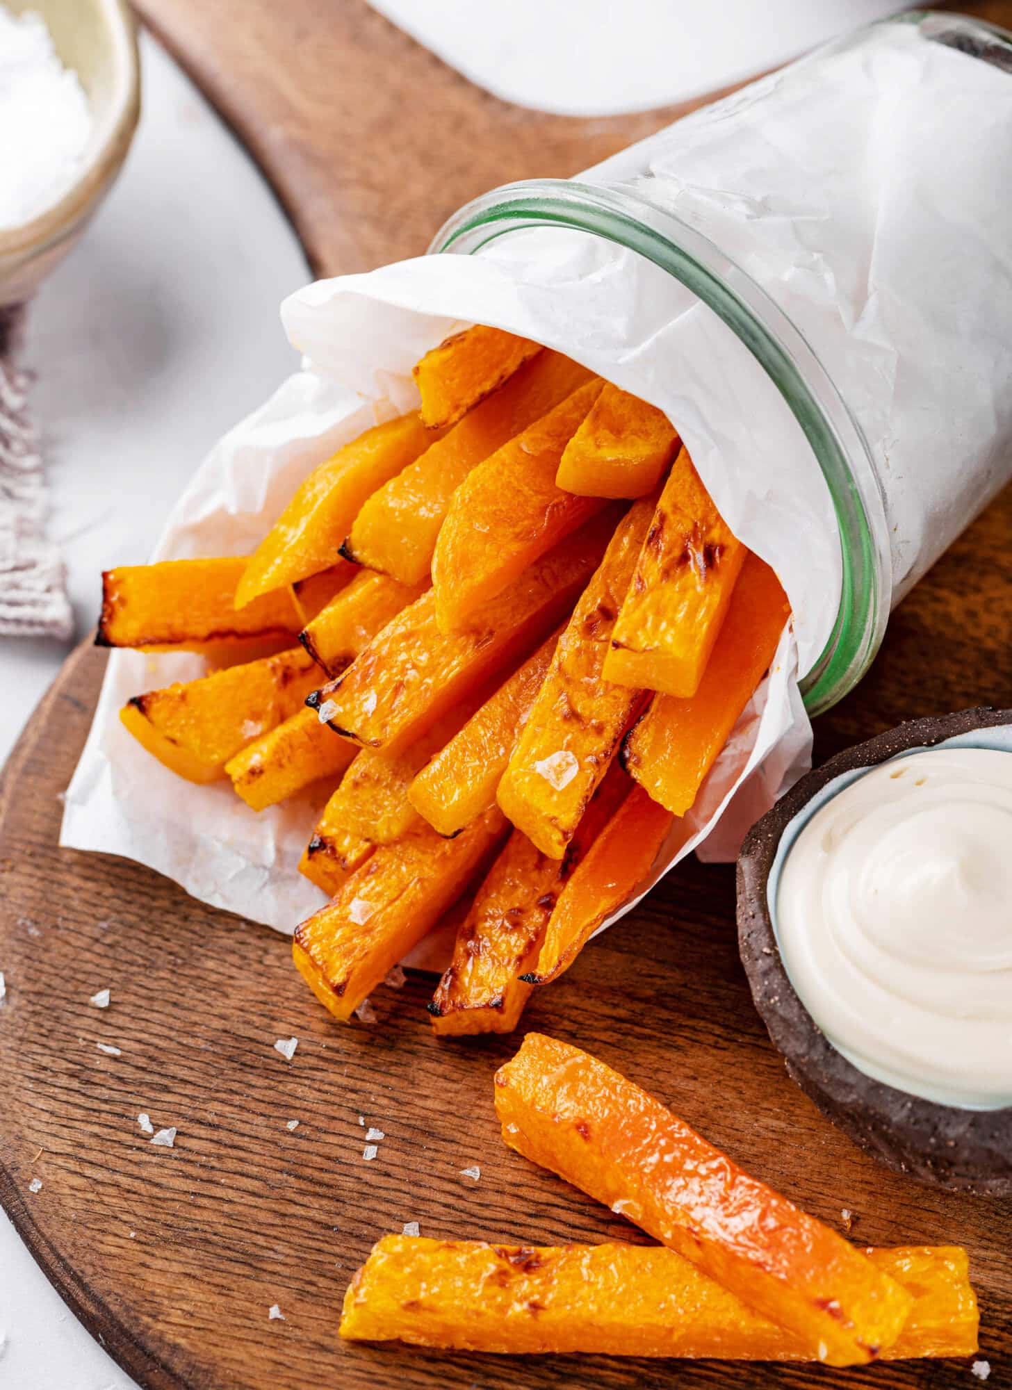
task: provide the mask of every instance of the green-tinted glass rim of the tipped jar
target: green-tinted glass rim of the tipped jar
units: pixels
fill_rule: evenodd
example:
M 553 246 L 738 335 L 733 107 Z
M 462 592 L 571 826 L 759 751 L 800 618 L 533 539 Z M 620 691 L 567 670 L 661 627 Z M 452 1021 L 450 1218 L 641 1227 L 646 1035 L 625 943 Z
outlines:
M 801 673 L 810 714 L 851 691 L 881 645 L 892 571 L 886 506 L 860 425 L 805 335 L 709 238 L 628 186 L 576 179 L 507 183 L 462 207 L 430 253 L 474 254 L 512 231 L 569 228 L 637 252 L 685 285 L 749 349 L 801 425 L 837 518 L 840 606 L 812 667 Z

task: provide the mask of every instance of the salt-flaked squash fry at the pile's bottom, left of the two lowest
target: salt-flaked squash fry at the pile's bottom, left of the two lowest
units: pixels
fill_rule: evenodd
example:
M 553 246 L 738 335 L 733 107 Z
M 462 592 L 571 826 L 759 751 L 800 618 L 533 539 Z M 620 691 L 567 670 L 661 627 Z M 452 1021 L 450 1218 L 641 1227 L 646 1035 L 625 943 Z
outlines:
M 506 833 L 498 810 L 455 840 L 418 826 L 381 845 L 336 897 L 295 931 L 295 963 L 316 997 L 346 1020 L 436 924 Z

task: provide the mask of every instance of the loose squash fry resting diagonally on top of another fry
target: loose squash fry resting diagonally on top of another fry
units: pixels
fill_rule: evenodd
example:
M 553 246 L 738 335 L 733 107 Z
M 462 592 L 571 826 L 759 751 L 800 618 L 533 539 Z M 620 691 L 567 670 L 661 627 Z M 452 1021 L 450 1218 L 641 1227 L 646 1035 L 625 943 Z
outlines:
M 696 1264 L 756 1312 L 860 1365 L 894 1346 L 913 1298 L 823 1226 L 580 1048 L 528 1033 L 495 1076 L 506 1144 Z

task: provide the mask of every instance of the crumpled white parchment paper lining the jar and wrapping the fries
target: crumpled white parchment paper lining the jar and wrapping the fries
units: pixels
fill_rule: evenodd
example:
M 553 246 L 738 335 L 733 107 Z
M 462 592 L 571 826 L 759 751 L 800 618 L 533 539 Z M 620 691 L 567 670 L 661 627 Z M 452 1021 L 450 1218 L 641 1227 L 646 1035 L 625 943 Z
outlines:
M 998 235 L 1009 200 L 1001 181 L 990 192 L 965 177 L 976 160 L 983 178 L 990 152 L 961 163 L 961 142 L 981 122 L 990 140 L 1009 128 L 1012 81 L 911 26 L 884 26 L 869 42 L 858 57 L 812 60 L 822 75 L 809 63 L 758 83 L 589 177 L 673 199 L 809 334 L 876 452 L 901 594 L 1012 466 L 1012 338 L 995 331 L 995 316 L 1008 325 L 1012 307 L 1012 236 Z M 986 97 L 983 117 L 979 101 L 963 100 L 969 74 Z M 1009 150 L 1006 142 L 995 157 L 1008 164 Z M 959 206 L 942 197 L 936 168 L 954 181 Z M 808 767 L 798 671 L 822 651 L 841 585 L 826 484 L 751 353 L 660 268 L 560 229 L 514 232 L 473 257 L 321 281 L 292 296 L 282 317 L 304 370 L 211 450 L 154 557 L 253 549 L 316 464 L 417 404 L 411 364 L 466 324 L 569 353 L 666 411 L 728 524 L 791 600 L 792 628 L 770 674 L 655 878 L 703 841 L 706 856 L 731 858 L 748 824 Z M 321 901 L 296 870 L 316 808 L 292 802 L 257 816 L 227 787 L 175 778 L 118 723 L 131 695 L 189 674 L 188 657 L 113 653 L 61 842 L 136 859 L 206 902 L 291 931 Z

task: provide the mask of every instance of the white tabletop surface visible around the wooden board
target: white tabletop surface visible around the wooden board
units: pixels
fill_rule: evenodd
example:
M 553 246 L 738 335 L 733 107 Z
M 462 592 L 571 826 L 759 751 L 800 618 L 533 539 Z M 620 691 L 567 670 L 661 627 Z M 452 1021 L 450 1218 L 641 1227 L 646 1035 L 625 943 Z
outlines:
M 513 0 L 495 25 L 474 25 L 471 0 L 371 3 L 491 90 L 587 114 L 721 86 L 897 8 Z M 277 307 L 306 278 L 300 247 L 243 152 L 171 61 L 143 47 L 145 114 L 122 179 L 29 322 L 50 534 L 67 559 L 79 634 L 96 617 L 99 571 L 146 557 L 207 448 L 292 367 Z M 0 763 L 65 655 L 51 642 L 0 639 Z M 44 1202 L 44 1186 L 31 1200 Z M 3 1390 L 132 1384 L 0 1211 Z

